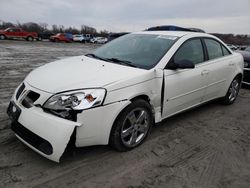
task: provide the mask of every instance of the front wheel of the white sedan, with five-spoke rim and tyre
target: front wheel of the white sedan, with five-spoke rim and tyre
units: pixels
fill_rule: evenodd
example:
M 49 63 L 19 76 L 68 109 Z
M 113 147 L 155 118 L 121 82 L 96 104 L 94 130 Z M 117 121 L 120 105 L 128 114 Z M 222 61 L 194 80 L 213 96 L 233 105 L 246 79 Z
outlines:
M 138 99 L 117 117 L 110 134 L 110 145 L 118 151 L 128 151 L 142 144 L 153 125 L 151 106 Z

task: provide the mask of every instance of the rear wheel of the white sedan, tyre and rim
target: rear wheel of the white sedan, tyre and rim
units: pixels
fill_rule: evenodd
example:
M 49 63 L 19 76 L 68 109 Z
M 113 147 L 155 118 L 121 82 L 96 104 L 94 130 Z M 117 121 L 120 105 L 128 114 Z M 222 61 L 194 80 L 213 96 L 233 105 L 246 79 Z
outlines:
M 238 96 L 241 85 L 241 79 L 239 76 L 235 77 L 231 82 L 227 94 L 222 98 L 222 103 L 225 105 L 233 104 Z

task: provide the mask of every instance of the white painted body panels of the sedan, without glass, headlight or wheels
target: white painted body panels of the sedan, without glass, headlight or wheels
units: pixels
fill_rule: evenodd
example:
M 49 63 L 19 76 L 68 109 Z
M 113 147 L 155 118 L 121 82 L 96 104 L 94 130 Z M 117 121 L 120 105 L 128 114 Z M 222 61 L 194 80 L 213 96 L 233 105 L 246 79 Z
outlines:
M 102 106 L 83 110 L 77 115 L 77 122 L 46 113 L 39 106 L 25 109 L 13 97 L 12 100 L 22 109 L 18 122 L 49 141 L 54 152 L 45 155 L 19 138 L 41 155 L 58 162 L 75 128 L 77 147 L 108 144 L 116 117 L 134 97 L 148 96 L 157 123 L 209 100 L 225 96 L 234 77 L 243 72 L 242 56 L 232 51 L 231 55 L 206 61 L 194 69 L 164 69 L 186 40 L 193 37 L 215 37 L 191 32 L 150 33 L 180 37 L 150 70 L 78 56 L 46 64 L 32 71 L 24 83 L 26 90 L 40 94 L 35 104 L 42 105 L 52 95 L 74 89 L 105 88 L 107 94 Z M 163 80 L 165 86 L 162 100 Z

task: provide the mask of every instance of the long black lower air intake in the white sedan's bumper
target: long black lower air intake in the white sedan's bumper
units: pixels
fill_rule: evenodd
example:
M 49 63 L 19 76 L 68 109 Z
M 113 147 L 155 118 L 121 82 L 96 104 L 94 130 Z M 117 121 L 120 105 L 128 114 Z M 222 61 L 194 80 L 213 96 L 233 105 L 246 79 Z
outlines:
M 25 142 L 29 143 L 31 146 L 35 147 L 46 155 L 51 155 L 53 153 L 53 147 L 47 140 L 31 132 L 20 123 L 16 121 L 13 122 L 11 124 L 11 129 Z

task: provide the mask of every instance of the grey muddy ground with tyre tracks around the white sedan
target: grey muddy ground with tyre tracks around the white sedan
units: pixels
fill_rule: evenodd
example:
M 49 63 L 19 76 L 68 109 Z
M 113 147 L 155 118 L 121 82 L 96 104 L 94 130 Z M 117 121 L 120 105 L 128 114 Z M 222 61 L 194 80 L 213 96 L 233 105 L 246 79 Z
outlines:
M 130 152 L 77 148 L 57 164 L 22 144 L 6 108 L 32 69 L 96 45 L 0 41 L 0 187 L 250 187 L 250 90 L 235 104 L 211 102 L 156 125 Z

